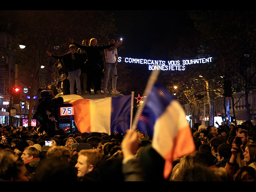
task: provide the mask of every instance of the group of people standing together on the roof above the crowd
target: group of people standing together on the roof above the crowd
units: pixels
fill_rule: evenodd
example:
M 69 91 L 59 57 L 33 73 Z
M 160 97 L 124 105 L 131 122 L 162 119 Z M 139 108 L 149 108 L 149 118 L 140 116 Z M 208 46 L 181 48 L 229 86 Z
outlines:
M 108 40 L 108 44 L 98 46 L 96 38 L 82 41 L 82 45 L 69 38 L 69 52 L 57 56 L 46 51 L 48 56 L 58 59 L 54 68 L 60 76 L 61 89 L 64 95 L 68 94 L 91 94 L 93 88 L 95 94 L 101 94 L 102 78 L 104 77 L 104 93 L 108 91 L 108 79 L 110 71 L 113 76 L 112 93 L 120 93 L 116 89 L 118 62 L 117 47 L 122 44 L 114 38 Z M 76 47 L 78 49 L 76 50 Z M 105 57 L 103 58 L 102 52 Z

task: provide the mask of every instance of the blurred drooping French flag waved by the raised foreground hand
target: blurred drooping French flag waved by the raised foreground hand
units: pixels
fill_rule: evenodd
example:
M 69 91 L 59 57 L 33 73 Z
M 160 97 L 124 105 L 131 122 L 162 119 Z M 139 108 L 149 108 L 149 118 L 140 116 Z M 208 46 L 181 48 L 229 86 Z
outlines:
M 160 84 L 154 84 L 150 91 L 137 128 L 152 137 L 152 148 L 164 158 L 164 178 L 170 176 L 175 158 L 195 150 L 192 132 L 182 106 Z

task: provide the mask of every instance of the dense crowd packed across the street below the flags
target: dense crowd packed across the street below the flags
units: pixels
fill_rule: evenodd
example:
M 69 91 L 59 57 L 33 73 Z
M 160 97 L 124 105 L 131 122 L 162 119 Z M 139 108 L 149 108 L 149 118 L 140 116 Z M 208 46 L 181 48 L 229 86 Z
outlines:
M 195 123 L 196 150 L 173 160 L 169 178 L 152 138 L 139 130 L 111 135 L 0 126 L 1 181 L 255 181 L 256 127 Z

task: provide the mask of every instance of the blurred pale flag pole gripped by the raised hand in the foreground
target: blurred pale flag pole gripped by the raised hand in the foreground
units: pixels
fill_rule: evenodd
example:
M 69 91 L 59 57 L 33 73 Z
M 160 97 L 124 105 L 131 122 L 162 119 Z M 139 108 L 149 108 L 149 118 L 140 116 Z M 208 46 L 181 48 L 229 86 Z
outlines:
M 147 82 L 147 86 L 144 90 L 144 94 L 143 96 L 148 96 L 148 94 L 150 93 L 152 87 L 154 86 L 157 78 L 158 78 L 158 74 L 160 73 L 160 70 L 153 70 L 152 73 L 150 74 L 150 77 L 148 79 L 148 82 Z M 145 99 L 143 100 L 143 103 L 142 105 L 140 106 L 139 110 L 137 110 L 136 112 L 136 115 L 134 117 L 134 121 L 133 121 L 133 124 L 132 124 L 132 129 L 133 130 L 136 130 L 136 127 L 137 127 L 137 124 L 138 124 L 138 121 L 139 121 L 139 117 L 143 111 L 143 108 L 146 104 L 146 101 L 147 101 L 148 97 L 145 97 Z

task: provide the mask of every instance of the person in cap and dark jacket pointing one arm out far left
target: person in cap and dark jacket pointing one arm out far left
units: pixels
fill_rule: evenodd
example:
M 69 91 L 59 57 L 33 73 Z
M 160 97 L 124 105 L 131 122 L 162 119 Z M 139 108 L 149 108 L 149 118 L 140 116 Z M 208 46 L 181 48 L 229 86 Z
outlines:
M 71 44 L 69 46 L 69 52 L 62 55 L 57 56 L 53 55 L 50 52 L 46 51 L 48 56 L 60 59 L 63 61 L 65 67 L 68 71 L 68 79 L 70 82 L 70 94 L 75 94 L 74 86 L 76 82 L 77 94 L 81 94 L 81 84 L 80 84 L 80 74 L 81 74 L 81 66 L 84 64 L 84 54 L 76 52 L 76 46 Z

